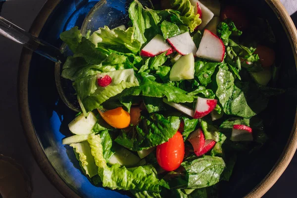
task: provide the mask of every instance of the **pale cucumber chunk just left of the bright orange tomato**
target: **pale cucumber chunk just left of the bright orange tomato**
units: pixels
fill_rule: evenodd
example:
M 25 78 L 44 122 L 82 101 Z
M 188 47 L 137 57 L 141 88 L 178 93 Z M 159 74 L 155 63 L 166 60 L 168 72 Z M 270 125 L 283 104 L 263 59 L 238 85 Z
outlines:
M 76 135 L 87 135 L 92 133 L 92 129 L 97 122 L 94 113 L 90 112 L 87 118 L 80 114 L 68 124 L 69 130 Z

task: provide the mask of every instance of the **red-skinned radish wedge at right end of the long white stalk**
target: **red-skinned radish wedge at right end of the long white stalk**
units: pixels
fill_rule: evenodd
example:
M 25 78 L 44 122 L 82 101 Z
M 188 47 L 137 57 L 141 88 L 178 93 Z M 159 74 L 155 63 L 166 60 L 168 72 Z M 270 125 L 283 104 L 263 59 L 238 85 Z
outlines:
M 194 118 L 202 118 L 205 115 L 209 114 L 215 108 L 216 104 L 216 99 L 203 99 L 198 97 Z

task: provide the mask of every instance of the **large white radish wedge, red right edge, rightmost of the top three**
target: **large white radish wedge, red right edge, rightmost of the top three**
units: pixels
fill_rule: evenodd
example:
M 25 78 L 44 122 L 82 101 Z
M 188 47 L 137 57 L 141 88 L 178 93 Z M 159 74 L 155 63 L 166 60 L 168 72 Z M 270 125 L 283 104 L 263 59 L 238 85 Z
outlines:
M 200 58 L 222 62 L 225 55 L 224 43 L 215 34 L 205 29 L 196 55 Z

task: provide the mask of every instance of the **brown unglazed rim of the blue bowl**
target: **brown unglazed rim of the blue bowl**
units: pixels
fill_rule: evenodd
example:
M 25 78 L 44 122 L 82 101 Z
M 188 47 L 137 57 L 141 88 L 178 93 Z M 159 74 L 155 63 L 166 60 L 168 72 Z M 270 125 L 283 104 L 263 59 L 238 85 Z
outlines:
M 266 3 L 271 7 L 271 9 L 278 16 L 284 30 L 286 31 L 287 37 L 290 41 L 296 68 L 297 68 L 297 30 L 295 24 L 293 23 L 290 15 L 288 14 L 286 8 L 279 0 L 265 0 Z M 44 24 L 46 23 L 49 15 L 54 10 L 54 8 L 59 4 L 60 0 L 47 0 L 38 15 L 36 16 L 29 32 L 38 37 Z M 29 77 L 29 67 L 33 52 L 29 49 L 22 49 L 19 68 L 18 68 L 18 82 L 17 82 L 17 93 L 18 93 L 18 106 L 20 112 L 20 120 L 24 129 L 24 134 L 26 136 L 27 142 L 31 151 L 37 161 L 39 167 L 43 173 L 47 176 L 49 181 L 55 186 L 55 188 L 66 198 L 80 198 L 79 195 L 70 188 L 64 182 L 64 180 L 58 175 L 53 166 L 50 164 L 44 149 L 36 135 L 30 109 L 28 103 L 28 77 Z M 271 169 L 271 171 L 265 176 L 265 178 L 252 189 L 245 198 L 261 198 L 279 179 L 282 173 L 285 171 L 289 165 L 294 153 L 297 149 L 297 111 L 295 115 L 295 121 L 293 125 L 292 132 L 290 134 L 287 145 L 285 146 L 281 156 L 278 161 Z

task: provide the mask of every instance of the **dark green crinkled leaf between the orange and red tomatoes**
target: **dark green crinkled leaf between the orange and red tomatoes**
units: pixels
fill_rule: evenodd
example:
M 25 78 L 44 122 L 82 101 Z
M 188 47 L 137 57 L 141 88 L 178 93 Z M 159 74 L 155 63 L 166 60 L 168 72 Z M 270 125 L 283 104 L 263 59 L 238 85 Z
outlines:
M 176 116 L 143 115 L 136 127 L 122 130 L 114 141 L 135 151 L 148 149 L 167 142 L 177 132 L 179 125 L 180 119 Z

